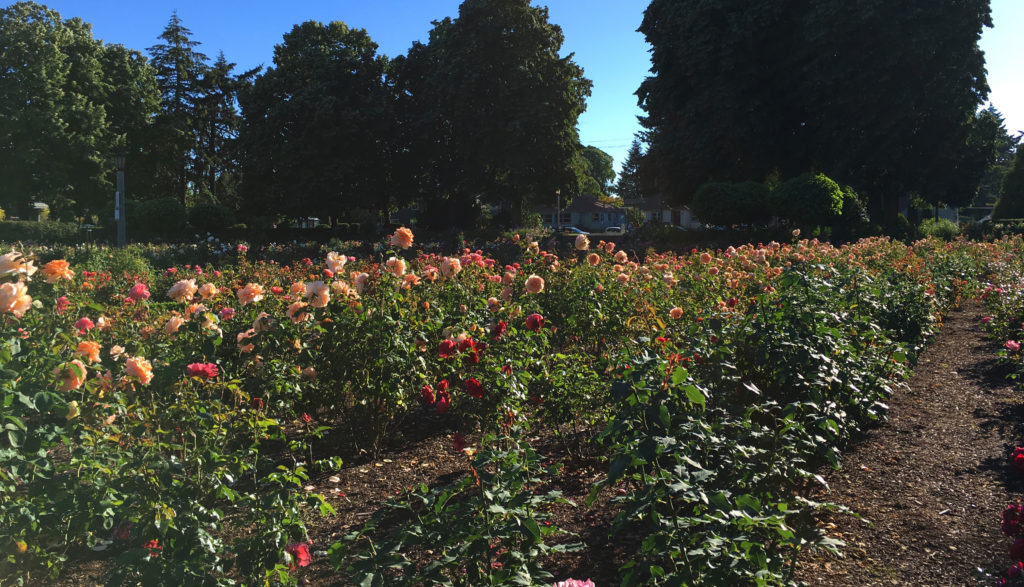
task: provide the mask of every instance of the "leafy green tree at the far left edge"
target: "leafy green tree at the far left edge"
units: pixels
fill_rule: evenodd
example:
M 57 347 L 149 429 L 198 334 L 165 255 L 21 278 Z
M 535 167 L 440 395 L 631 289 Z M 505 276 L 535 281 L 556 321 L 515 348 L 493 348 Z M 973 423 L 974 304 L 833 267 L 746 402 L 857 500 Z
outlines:
M 58 218 L 97 211 L 113 193 L 113 156 L 153 114 L 153 72 L 136 52 L 34 2 L 0 9 L 0 204 L 32 202 Z

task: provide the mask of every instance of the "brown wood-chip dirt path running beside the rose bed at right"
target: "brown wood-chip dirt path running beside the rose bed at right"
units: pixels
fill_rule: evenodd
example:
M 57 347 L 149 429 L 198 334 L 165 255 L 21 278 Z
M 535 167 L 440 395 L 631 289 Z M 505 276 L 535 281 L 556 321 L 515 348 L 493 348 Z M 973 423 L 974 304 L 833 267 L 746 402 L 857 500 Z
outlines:
M 840 558 L 805 555 L 810 585 L 992 584 L 1010 565 L 999 533 L 1002 508 L 1021 496 L 1024 475 L 1008 465 L 1024 439 L 1022 394 L 995 362 L 981 308 L 952 313 L 906 386 L 890 420 L 868 432 L 827 477 L 819 499 L 860 513 L 821 523 L 848 546 Z M 986 577 L 988 574 L 988 577 Z

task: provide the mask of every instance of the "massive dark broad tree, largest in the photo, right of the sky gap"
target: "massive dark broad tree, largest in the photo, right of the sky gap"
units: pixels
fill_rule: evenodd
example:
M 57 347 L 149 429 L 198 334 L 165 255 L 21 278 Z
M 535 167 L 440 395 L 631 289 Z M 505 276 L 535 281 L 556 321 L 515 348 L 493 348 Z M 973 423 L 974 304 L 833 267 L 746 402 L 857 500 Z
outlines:
M 640 27 L 653 74 L 637 92 L 645 168 L 677 202 L 708 180 L 808 169 L 890 220 L 905 193 L 951 199 L 946 185 L 969 184 L 975 166 L 950 160 L 979 151 L 988 4 L 653 0 Z

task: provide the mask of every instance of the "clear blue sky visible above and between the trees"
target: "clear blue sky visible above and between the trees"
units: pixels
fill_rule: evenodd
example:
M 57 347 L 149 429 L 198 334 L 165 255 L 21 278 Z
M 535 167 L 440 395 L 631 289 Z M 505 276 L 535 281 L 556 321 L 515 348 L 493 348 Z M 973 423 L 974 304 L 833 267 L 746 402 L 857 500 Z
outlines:
M 272 65 L 273 46 L 305 20 L 344 20 L 366 29 L 388 56 L 425 41 L 431 20 L 457 16 L 460 0 L 40 0 L 63 18 L 92 24 L 93 36 L 145 52 L 173 10 L 211 58 L 220 51 L 243 71 Z M 650 68 L 648 45 L 636 30 L 649 0 L 543 0 L 565 35 L 563 54 L 594 82 L 580 139 L 622 164 L 640 129 L 634 92 Z M 1011 132 L 1024 131 L 1024 1 L 992 0 L 994 29 L 982 37 L 990 98 Z

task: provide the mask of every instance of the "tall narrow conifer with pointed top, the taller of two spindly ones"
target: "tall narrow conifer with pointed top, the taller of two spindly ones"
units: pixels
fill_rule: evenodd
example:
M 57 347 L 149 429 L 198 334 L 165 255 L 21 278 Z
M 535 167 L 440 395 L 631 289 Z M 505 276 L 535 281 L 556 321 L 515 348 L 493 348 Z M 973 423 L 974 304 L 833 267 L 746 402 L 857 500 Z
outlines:
M 199 143 L 193 125 L 207 56 L 196 49 L 201 43 L 191 40 L 191 31 L 181 24 L 177 11 L 171 14 L 159 39 L 163 42 L 146 49 L 157 70 L 161 95 L 146 169 L 153 184 L 146 192 L 150 197 L 177 198 L 187 205 L 200 179 L 195 166 Z

